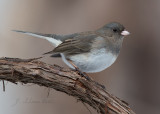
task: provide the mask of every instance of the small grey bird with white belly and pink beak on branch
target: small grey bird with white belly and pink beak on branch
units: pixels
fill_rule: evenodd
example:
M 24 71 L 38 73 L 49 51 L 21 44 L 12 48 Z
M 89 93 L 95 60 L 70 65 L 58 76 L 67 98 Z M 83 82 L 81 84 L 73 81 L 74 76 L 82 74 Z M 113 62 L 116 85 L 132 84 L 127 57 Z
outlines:
M 62 57 L 69 67 L 78 67 L 86 73 L 100 72 L 112 65 L 119 55 L 124 36 L 129 35 L 117 22 L 106 24 L 96 31 L 63 36 L 15 31 L 48 40 L 55 48 L 46 54 Z

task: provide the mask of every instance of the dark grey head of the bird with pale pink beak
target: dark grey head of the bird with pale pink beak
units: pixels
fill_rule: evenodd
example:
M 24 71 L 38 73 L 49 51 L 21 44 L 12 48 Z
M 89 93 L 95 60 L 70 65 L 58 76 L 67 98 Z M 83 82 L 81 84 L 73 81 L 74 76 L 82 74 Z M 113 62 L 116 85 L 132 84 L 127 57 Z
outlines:
M 125 30 L 125 27 L 117 22 L 108 23 L 97 31 L 104 36 L 114 38 L 123 38 L 124 36 L 129 35 L 129 32 Z

